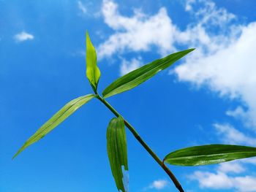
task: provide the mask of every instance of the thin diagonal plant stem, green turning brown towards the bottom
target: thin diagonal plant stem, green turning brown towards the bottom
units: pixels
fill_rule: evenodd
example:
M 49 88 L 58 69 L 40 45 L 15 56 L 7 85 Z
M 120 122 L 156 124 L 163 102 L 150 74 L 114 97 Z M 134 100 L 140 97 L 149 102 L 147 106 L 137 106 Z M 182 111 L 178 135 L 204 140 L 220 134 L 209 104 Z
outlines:
M 102 98 L 101 96 L 99 96 L 97 94 L 97 99 L 99 99 L 99 101 L 102 101 L 103 104 L 105 104 L 106 107 L 108 107 L 108 109 L 113 112 L 114 115 L 116 115 L 116 117 L 121 116 L 109 103 L 108 101 L 106 101 L 104 98 Z M 140 142 L 141 145 L 143 145 L 143 147 L 148 151 L 148 153 L 152 156 L 152 158 L 154 158 L 155 161 L 157 161 L 157 164 L 159 164 L 159 166 L 162 167 L 162 169 L 165 170 L 165 172 L 169 175 L 170 179 L 173 181 L 174 185 L 176 185 L 176 188 L 178 188 L 178 191 L 180 192 L 184 192 L 181 184 L 178 182 L 178 180 L 176 179 L 175 175 L 173 174 L 173 172 L 170 171 L 170 169 L 167 168 L 167 166 L 165 165 L 165 163 L 163 161 L 161 161 L 161 159 L 157 156 L 156 153 L 154 153 L 153 150 L 151 150 L 150 147 L 148 147 L 148 145 L 146 144 L 146 142 L 143 141 L 143 139 L 140 137 L 140 135 L 138 134 L 138 132 L 135 130 L 135 128 L 133 128 L 133 126 L 124 119 L 124 124 L 125 126 L 127 126 L 127 128 L 129 128 L 129 131 L 132 132 L 132 134 L 134 135 L 134 137 L 138 140 L 138 142 Z

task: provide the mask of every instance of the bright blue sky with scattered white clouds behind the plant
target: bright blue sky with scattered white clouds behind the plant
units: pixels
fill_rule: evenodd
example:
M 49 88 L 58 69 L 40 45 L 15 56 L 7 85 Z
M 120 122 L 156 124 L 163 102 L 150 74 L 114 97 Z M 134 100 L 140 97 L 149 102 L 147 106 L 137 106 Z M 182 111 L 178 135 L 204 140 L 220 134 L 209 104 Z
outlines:
M 0 191 L 116 191 L 106 151 L 113 115 L 97 100 L 12 155 L 68 101 L 178 50 L 169 70 L 108 99 L 163 158 L 192 145 L 256 145 L 255 1 L 0 1 Z M 130 191 L 176 191 L 127 130 Z M 256 160 L 170 166 L 185 191 L 256 191 Z

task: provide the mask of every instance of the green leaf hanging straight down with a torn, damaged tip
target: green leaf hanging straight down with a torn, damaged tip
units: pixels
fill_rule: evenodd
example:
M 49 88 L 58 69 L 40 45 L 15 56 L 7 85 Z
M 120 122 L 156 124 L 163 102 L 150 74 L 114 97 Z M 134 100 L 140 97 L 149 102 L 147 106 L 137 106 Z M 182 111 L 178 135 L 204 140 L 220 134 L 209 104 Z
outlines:
M 108 159 L 118 191 L 128 191 L 127 139 L 124 120 L 121 117 L 110 120 L 107 129 Z

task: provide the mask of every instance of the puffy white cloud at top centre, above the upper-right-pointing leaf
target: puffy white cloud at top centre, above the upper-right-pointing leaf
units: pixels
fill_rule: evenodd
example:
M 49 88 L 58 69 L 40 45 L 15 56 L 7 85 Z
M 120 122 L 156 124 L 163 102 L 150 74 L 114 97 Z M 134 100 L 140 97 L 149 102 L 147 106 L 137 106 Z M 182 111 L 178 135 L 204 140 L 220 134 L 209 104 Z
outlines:
M 173 34 L 176 28 L 165 7 L 159 9 L 156 15 L 148 16 L 135 9 L 132 17 L 125 17 L 118 12 L 118 4 L 104 0 L 102 15 L 105 23 L 115 32 L 99 45 L 99 58 L 124 50 L 146 51 L 151 45 L 159 47 L 159 52 L 163 54 L 175 50 Z

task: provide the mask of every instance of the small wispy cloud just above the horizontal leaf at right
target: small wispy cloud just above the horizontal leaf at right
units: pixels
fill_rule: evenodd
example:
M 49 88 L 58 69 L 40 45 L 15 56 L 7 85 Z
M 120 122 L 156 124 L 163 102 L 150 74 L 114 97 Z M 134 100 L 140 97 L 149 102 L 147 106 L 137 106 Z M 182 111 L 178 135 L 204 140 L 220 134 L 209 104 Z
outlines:
M 233 145 L 256 145 L 255 137 L 246 136 L 246 134 L 238 131 L 228 124 L 214 124 L 217 134 L 221 135 L 223 142 Z

